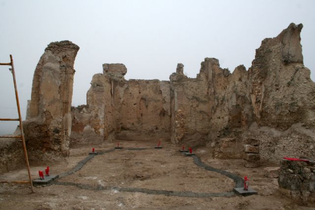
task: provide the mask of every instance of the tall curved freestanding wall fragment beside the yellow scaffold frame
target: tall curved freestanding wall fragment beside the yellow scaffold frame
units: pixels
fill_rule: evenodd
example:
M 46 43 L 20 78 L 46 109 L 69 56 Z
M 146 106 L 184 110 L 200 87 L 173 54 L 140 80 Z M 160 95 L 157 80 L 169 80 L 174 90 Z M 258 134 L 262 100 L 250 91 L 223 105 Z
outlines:
M 52 160 L 69 153 L 73 64 L 78 50 L 70 41 L 52 42 L 36 66 L 28 119 L 23 122 L 31 160 Z

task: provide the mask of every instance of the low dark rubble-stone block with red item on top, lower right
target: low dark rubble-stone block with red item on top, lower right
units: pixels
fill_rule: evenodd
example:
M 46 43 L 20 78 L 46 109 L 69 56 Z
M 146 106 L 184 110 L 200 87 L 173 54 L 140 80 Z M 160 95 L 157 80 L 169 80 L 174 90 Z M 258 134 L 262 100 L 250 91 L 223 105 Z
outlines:
M 314 164 L 282 160 L 278 182 L 280 189 L 288 190 L 287 196 L 302 202 L 315 202 Z

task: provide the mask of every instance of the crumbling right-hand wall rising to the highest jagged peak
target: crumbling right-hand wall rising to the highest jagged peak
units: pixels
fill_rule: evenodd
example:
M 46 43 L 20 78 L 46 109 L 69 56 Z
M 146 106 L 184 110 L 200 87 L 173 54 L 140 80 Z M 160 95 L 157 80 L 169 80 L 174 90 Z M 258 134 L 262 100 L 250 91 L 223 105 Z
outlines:
M 231 74 L 219 60 L 206 58 L 196 79 L 182 70 L 173 73 L 172 142 L 206 143 L 215 157 L 241 158 L 243 139 L 252 138 L 260 140 L 262 160 L 278 162 L 285 154 L 314 158 L 315 83 L 303 65 L 302 27 L 290 24 L 277 37 L 264 39 L 249 71 L 240 65 Z M 189 98 L 194 95 L 197 104 Z M 207 107 L 201 121 L 209 129 L 193 143 L 191 122 L 199 120 L 193 107 L 200 105 Z

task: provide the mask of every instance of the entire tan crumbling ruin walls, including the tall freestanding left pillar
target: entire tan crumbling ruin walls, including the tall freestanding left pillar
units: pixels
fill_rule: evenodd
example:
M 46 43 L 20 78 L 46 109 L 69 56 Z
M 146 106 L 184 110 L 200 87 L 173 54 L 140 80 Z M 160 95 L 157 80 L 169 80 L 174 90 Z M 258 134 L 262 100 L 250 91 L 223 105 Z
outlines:
M 103 64 L 87 105 L 71 110 L 79 47 L 52 42 L 36 66 L 24 121 L 30 160 L 58 159 L 68 155 L 69 145 L 112 139 L 204 145 L 218 158 L 242 158 L 243 145 L 252 139 L 260 142 L 262 160 L 314 159 L 315 83 L 303 65 L 302 27 L 290 24 L 264 39 L 248 71 L 240 65 L 230 73 L 219 60 L 206 58 L 196 78 L 185 76 L 179 63 L 170 81 L 127 81 L 124 64 Z M 4 151 L 14 144 L 0 145 L 3 169 Z M 11 159 L 21 156 L 14 151 Z

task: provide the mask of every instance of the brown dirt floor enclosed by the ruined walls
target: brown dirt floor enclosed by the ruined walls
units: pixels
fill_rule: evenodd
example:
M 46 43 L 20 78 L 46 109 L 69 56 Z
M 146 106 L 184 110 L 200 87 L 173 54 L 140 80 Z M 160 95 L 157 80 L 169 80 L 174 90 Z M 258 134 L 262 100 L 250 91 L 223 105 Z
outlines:
M 248 176 L 257 195 L 242 197 L 179 197 L 143 192 L 120 191 L 120 188 L 142 188 L 178 192 L 218 193 L 235 187 L 233 180 L 199 168 L 192 157 L 181 154 L 178 146 L 163 142 L 163 149 L 153 149 L 156 143 L 120 141 L 125 148 L 95 155 L 81 170 L 60 178 L 47 186 L 35 187 L 31 193 L 27 184 L 1 184 L 0 210 L 112 210 L 112 209 L 173 209 L 173 210 L 311 210 L 314 206 L 299 206 L 278 191 L 277 179 L 263 176 L 263 168 L 248 169 L 242 160 L 213 159 L 207 148 L 194 153 L 214 168 L 240 177 Z M 113 149 L 117 141 L 95 146 L 95 150 Z M 50 165 L 52 174 L 74 168 L 86 158 L 92 147 L 71 149 L 67 161 Z M 148 148 L 126 150 L 126 148 Z M 32 177 L 46 165 L 32 167 Z M 16 170 L 0 175 L 0 180 L 27 180 L 27 171 Z M 63 183 L 72 185 L 60 185 Z M 90 187 L 90 188 L 89 188 Z

